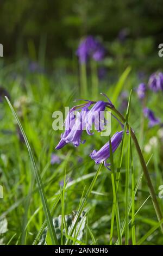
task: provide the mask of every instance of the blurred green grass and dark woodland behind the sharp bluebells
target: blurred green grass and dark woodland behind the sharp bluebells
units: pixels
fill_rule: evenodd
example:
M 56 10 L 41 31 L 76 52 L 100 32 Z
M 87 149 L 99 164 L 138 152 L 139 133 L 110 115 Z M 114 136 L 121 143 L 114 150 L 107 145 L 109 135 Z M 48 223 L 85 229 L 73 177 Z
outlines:
M 87 99 L 104 100 L 99 93 L 106 93 L 124 115 L 130 90 L 133 89 L 129 123 L 139 139 L 158 195 L 159 186 L 163 184 L 163 131 L 160 127 L 163 121 L 162 92 L 154 93 L 148 88 L 145 100 L 141 101 L 136 88 L 141 82 L 147 84 L 153 72 L 162 71 L 163 57 L 158 55 L 158 45 L 163 43 L 162 5 L 162 0 L 0 1 L 0 43 L 4 50 L 4 57 L 0 57 L 0 185 L 3 185 L 4 190 L 0 207 L 0 227 L 3 227 L 0 229 L 0 243 L 37 244 L 45 221 L 28 150 L 4 95 L 9 97 L 26 132 L 49 209 L 53 208 L 52 217 L 57 218 L 55 220 L 58 221 L 58 216 L 64 214 L 70 223 L 73 220 L 82 195 L 85 196 L 98 168 L 89 155 L 107 141 L 98 132 L 93 137 L 84 133 L 85 144 L 74 148 L 69 143 L 61 150 L 54 150 L 61 131 L 52 129 L 52 113 L 58 110 L 64 112 L 65 106 L 76 104 L 73 101 L 81 98 L 84 79 L 87 83 Z M 89 60 L 84 77 L 77 48 L 79 42 L 88 35 L 104 46 L 105 56 L 96 62 L 96 66 Z M 95 84 L 98 86 L 96 93 Z M 158 126 L 148 127 L 143 107 L 154 111 L 160 120 Z M 111 136 L 120 129 L 113 119 Z M 126 214 L 126 191 L 128 188 L 130 202 L 133 190 L 131 176 L 129 186 L 126 186 L 129 153 L 128 141 L 125 143 L 118 187 L 120 224 L 123 228 L 124 220 L 131 218 L 131 211 Z M 158 220 L 146 180 L 135 148 L 132 147 L 134 186 L 137 185 L 137 191 L 131 205 L 134 205 L 136 212 L 136 242 L 160 245 L 163 243 L 162 233 L 156 226 Z M 115 170 L 121 158 L 120 151 L 118 149 L 114 153 Z M 65 170 L 68 188 L 65 197 L 58 198 Z M 160 198 L 158 200 L 163 210 L 163 201 Z M 86 198 L 86 215 L 83 211 L 80 216 L 79 224 L 81 219 L 84 224 L 76 237 L 80 240 L 78 243 L 116 243 L 116 220 L 111 227 L 112 205 L 111 175 L 102 166 L 96 184 L 89 198 Z M 128 225 L 128 243 L 132 244 L 133 225 Z M 148 234 L 154 227 L 154 231 Z M 57 230 L 61 241 L 61 227 L 57 227 Z M 123 243 L 125 234 L 123 230 Z M 46 243 L 51 244 L 48 235 Z

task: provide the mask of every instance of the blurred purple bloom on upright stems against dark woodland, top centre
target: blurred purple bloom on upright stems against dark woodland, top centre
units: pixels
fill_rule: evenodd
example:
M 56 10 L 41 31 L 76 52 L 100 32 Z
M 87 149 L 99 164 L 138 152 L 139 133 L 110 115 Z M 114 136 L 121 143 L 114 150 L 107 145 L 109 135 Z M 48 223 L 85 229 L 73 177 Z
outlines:
M 92 35 L 89 35 L 80 42 L 77 56 L 79 57 L 80 63 L 86 63 L 89 57 L 92 57 L 96 62 L 99 62 L 105 56 L 105 48 L 98 40 L 93 38 Z

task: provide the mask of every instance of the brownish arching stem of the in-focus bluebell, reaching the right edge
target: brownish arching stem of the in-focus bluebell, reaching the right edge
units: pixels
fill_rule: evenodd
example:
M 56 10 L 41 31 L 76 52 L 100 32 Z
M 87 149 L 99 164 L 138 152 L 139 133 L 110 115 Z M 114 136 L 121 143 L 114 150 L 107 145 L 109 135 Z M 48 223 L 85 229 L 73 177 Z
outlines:
M 123 122 L 126 121 L 126 119 L 123 117 L 123 115 L 119 111 L 117 111 L 117 109 L 115 107 L 112 107 L 112 108 L 109 107 L 109 108 L 112 109 L 112 111 L 114 111 Z M 127 125 L 128 125 L 128 127 L 130 127 L 129 124 L 127 124 Z M 155 195 L 154 187 L 152 185 L 152 181 L 151 181 L 151 178 L 150 178 L 150 175 L 149 175 L 149 172 L 148 172 L 148 168 L 147 168 L 145 159 L 144 159 L 144 157 L 142 155 L 142 151 L 140 149 L 140 145 L 139 145 L 139 143 L 137 141 L 137 138 L 135 136 L 135 133 L 134 133 L 134 131 L 133 131 L 133 129 L 131 127 L 130 127 L 130 131 L 131 131 L 131 138 L 134 141 L 137 154 L 139 155 L 139 160 L 140 160 L 140 163 L 141 163 L 141 166 L 142 166 L 142 169 L 143 169 L 143 173 L 144 173 L 146 181 L 147 181 L 149 192 L 151 194 L 151 198 L 152 198 L 152 202 L 153 202 L 153 205 L 154 205 L 154 209 L 155 209 L 156 215 L 158 217 L 158 220 L 160 222 L 162 220 L 162 212 L 160 210 L 160 206 L 159 206 L 158 200 L 157 200 L 156 195 Z M 161 224 L 161 231 L 163 233 L 163 224 Z

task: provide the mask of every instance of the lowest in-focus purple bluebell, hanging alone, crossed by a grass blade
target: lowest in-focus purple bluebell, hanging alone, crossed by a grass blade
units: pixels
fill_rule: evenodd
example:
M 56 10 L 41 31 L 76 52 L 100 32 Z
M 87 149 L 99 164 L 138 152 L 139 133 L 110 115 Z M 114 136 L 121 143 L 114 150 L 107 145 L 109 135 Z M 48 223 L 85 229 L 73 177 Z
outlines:
M 111 137 L 111 147 L 112 147 L 112 153 L 116 151 L 118 146 L 120 145 L 122 141 L 123 131 L 116 132 Z M 106 163 L 106 160 L 110 157 L 110 144 L 109 142 L 105 143 L 101 149 L 93 150 L 93 152 L 90 154 L 91 159 L 95 160 L 96 164 L 104 162 L 104 166 L 108 168 L 110 164 Z M 109 168 L 108 168 L 109 169 Z

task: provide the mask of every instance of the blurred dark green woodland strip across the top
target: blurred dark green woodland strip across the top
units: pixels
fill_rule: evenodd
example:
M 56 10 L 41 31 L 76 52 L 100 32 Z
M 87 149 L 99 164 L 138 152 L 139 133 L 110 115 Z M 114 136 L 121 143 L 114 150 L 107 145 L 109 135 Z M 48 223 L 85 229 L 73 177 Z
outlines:
M 113 41 L 123 28 L 130 39 L 163 42 L 162 0 L 1 0 L 0 17 L 7 57 L 28 53 L 30 40 L 36 48 L 46 40 L 49 59 L 71 56 L 83 35 Z

